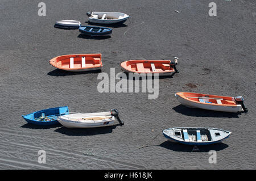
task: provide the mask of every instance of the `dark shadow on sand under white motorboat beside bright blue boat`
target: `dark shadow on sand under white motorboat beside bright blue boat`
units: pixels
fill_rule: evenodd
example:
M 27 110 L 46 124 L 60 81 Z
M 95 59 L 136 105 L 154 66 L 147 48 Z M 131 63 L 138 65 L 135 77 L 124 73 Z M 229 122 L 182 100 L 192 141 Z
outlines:
M 61 127 L 55 130 L 55 132 L 66 134 L 68 136 L 93 136 L 96 134 L 107 134 L 112 133 L 115 127 L 119 124 L 115 124 L 109 127 L 99 127 L 99 128 L 66 128 Z

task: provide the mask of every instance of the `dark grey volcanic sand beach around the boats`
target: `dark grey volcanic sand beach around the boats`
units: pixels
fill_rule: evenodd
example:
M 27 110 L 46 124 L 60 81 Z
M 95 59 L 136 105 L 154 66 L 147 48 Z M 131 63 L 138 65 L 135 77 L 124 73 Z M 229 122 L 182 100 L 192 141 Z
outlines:
M 38 16 L 39 2 L 1 1 L 0 169 L 255 169 L 254 0 L 215 0 L 217 16 L 208 15 L 212 1 L 205 0 L 44 2 L 46 16 Z M 63 19 L 87 24 L 88 11 L 125 12 L 130 19 L 108 26 L 113 33 L 105 39 L 53 28 Z M 121 72 L 122 61 L 177 56 L 180 73 L 159 79 L 157 99 L 100 93 L 98 72 L 68 73 L 48 64 L 80 53 L 102 53 L 108 74 L 110 68 Z M 249 112 L 186 108 L 174 96 L 181 91 L 241 95 Z M 68 129 L 22 118 L 58 106 L 84 113 L 116 108 L 125 125 Z M 172 127 L 222 128 L 232 135 L 192 152 L 163 137 L 162 130 Z M 39 150 L 46 151 L 46 164 L 38 163 Z M 216 164 L 208 162 L 209 150 L 217 151 Z

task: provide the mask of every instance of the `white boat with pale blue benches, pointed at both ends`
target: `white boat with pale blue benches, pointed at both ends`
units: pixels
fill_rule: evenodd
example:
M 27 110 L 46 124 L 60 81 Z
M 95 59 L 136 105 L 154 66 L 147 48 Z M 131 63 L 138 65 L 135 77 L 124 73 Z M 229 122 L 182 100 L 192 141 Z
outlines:
M 228 138 L 231 132 L 217 128 L 168 128 L 164 137 L 185 145 L 210 145 Z

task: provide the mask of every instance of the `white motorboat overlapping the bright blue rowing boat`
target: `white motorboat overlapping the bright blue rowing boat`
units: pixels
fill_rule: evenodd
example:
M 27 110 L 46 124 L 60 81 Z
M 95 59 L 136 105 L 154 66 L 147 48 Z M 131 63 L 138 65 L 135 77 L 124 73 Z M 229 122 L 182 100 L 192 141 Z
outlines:
M 67 128 L 96 128 L 113 125 L 115 118 L 123 125 L 117 110 L 97 113 L 71 112 L 69 115 L 60 115 L 57 120 Z

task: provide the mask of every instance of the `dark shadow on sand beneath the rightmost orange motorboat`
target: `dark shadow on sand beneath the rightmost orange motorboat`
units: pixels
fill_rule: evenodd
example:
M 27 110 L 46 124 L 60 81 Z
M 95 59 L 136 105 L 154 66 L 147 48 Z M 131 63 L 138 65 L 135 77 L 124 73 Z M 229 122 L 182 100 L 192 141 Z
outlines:
M 199 108 L 189 108 L 185 107 L 182 104 L 172 108 L 172 110 L 181 113 L 186 116 L 195 116 L 195 117 L 228 117 L 228 118 L 239 118 L 238 115 L 241 115 L 241 112 L 220 112 L 220 111 L 210 111 L 202 110 Z

